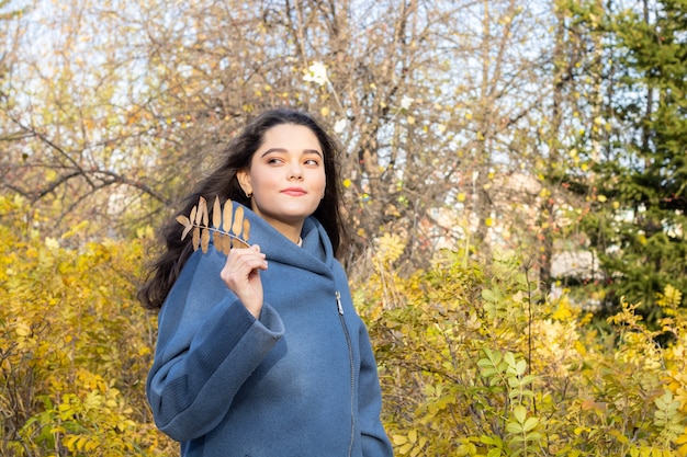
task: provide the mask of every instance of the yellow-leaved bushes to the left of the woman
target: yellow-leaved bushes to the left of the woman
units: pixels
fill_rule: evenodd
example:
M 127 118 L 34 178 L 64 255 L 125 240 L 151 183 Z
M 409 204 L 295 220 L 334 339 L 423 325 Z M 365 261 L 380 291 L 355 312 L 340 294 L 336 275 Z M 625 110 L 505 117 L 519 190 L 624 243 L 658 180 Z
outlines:
M 177 455 L 145 401 L 155 329 L 135 300 L 142 240 L 71 250 L 26 226 L 0 226 L 0 455 Z

